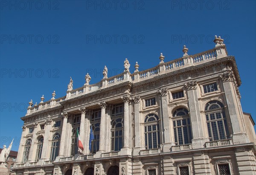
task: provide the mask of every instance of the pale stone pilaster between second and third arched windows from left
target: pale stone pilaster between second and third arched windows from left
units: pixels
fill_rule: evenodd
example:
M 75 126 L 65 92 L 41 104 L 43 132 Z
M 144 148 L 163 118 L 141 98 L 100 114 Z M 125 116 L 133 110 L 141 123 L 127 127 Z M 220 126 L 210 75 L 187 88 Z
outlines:
M 43 149 L 42 149 L 42 156 L 41 159 L 44 159 L 44 161 L 49 161 L 49 151 L 51 150 L 51 135 L 50 131 L 52 130 L 52 119 L 47 119 L 45 122 L 45 133 L 44 133 L 44 143 L 43 143 Z

